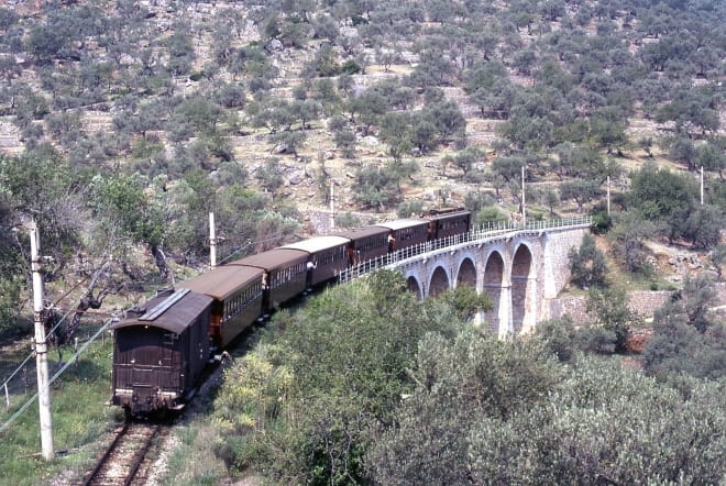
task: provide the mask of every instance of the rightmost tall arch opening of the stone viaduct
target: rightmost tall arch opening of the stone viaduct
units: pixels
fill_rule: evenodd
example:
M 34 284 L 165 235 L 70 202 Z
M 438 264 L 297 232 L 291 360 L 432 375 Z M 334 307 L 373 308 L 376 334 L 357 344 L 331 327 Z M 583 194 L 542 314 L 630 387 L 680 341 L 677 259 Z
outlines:
M 534 324 L 534 270 L 532 252 L 521 243 L 512 259 L 512 328 L 515 334 Z

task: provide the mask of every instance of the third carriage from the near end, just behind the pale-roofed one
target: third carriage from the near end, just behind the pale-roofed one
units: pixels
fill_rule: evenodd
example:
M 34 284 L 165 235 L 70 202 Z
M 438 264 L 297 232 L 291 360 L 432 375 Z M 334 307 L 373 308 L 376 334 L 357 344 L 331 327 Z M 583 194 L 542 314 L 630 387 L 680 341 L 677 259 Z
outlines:
M 275 248 L 257 253 L 226 266 L 252 266 L 264 270 L 262 308 L 265 312 L 305 291 L 305 264 L 308 254 L 301 250 Z

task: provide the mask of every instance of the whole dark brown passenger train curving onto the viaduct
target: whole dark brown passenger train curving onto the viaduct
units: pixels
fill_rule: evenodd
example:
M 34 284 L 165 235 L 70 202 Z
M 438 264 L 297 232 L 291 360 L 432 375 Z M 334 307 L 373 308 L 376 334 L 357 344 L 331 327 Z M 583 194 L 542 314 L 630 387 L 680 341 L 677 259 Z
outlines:
M 127 416 L 182 410 L 215 356 L 274 309 L 348 267 L 470 229 L 463 208 L 430 211 L 278 246 L 165 289 L 111 325 L 109 404 Z

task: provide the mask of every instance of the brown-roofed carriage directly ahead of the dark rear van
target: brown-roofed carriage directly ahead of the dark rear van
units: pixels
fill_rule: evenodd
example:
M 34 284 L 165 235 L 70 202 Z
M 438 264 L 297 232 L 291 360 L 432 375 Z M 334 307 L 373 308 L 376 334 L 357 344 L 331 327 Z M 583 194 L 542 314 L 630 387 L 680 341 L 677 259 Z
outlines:
M 226 347 L 263 313 L 263 274 L 256 267 L 224 265 L 179 284 L 215 299 L 209 331 L 216 347 Z

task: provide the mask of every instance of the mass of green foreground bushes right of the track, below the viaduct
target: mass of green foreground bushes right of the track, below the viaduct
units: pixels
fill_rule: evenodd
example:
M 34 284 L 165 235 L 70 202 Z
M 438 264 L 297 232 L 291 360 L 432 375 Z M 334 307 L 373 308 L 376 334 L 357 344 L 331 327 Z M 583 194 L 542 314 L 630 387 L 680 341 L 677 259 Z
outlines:
M 653 340 L 644 373 L 588 353 L 620 350 L 632 320 L 622 295 L 593 296 L 590 328 L 565 318 L 501 341 L 460 320 L 471 317 L 458 310 L 465 286 L 422 302 L 404 287 L 399 275 L 378 273 L 275 316 L 227 371 L 213 413 L 185 434 L 173 463 L 205 460 L 182 484 L 227 474 L 311 484 L 712 484 L 726 475 L 721 327 L 682 349 Z M 689 285 L 683 309 L 702 309 L 693 300 L 706 288 Z M 667 349 L 680 354 L 657 364 Z

